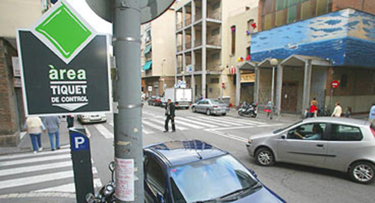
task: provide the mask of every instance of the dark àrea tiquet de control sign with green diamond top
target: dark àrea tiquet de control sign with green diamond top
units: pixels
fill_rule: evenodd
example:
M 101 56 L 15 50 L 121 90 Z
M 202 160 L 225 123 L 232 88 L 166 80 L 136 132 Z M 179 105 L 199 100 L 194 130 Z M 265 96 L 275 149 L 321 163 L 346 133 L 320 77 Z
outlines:
M 26 116 L 111 112 L 108 37 L 65 0 L 17 43 Z

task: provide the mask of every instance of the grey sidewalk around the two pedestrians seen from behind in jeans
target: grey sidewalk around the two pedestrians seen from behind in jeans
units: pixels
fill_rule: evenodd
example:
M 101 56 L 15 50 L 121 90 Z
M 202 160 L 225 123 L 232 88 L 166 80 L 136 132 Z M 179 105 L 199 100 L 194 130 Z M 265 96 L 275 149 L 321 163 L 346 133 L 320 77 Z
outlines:
M 64 145 L 70 145 L 69 141 L 69 131 L 67 128 L 68 124 L 66 123 L 66 119 L 62 118 L 61 119 L 61 124 L 60 124 L 60 146 Z M 83 128 L 82 125 L 77 122 L 77 119 L 74 120 L 74 127 L 77 128 Z M 49 142 L 49 137 L 48 133 L 42 132 L 41 135 L 41 140 L 42 140 L 42 147 L 43 151 L 51 150 L 51 144 Z M 32 147 L 31 147 L 31 141 L 30 141 L 30 136 L 27 133 L 24 133 L 24 136 L 22 137 L 20 144 L 18 144 L 17 147 L 0 147 L 0 155 L 7 155 L 7 154 L 16 154 L 16 153 L 26 153 L 26 152 L 32 152 Z

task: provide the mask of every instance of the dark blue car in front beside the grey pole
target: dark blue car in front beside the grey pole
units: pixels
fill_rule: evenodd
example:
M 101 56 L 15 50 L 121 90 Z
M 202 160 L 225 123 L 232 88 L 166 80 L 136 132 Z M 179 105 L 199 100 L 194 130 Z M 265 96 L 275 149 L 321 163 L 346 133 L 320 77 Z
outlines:
M 285 202 L 228 152 L 199 140 L 144 147 L 147 203 Z

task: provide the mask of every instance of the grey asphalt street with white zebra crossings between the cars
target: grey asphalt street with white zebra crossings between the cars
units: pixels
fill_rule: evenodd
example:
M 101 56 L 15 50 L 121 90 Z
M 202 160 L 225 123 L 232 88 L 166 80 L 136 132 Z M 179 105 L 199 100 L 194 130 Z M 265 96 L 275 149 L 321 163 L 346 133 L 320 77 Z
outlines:
M 233 154 L 258 178 L 287 202 L 374 202 L 375 184 L 351 182 L 344 173 L 276 163 L 271 167 L 255 164 L 245 147 L 248 137 L 271 132 L 292 121 L 250 119 L 236 115 L 206 116 L 191 110 L 177 110 L 176 132 L 163 132 L 164 109 L 144 105 L 142 111 L 143 145 L 170 140 L 199 139 Z M 81 127 L 80 124 L 76 124 Z M 106 123 L 84 125 L 91 141 L 93 176 L 96 191 L 110 181 L 108 163 L 113 160 L 113 119 Z M 63 141 L 64 142 L 64 141 Z M 1 202 L 74 202 L 74 179 L 69 143 L 62 149 L 42 153 L 0 156 Z M 13 197 L 13 198 L 12 198 Z M 24 199 L 26 198 L 26 199 Z M 52 198 L 52 199 L 51 199 Z

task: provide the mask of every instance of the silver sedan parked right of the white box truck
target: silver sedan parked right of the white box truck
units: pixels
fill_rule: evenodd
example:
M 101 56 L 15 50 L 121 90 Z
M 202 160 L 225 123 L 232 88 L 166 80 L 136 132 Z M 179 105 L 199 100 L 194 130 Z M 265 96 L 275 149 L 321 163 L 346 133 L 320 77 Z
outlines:
M 223 101 L 219 99 L 202 99 L 197 103 L 193 104 L 191 107 L 193 112 L 201 112 L 207 115 L 218 115 L 221 114 L 223 116 L 229 112 L 229 107 Z

